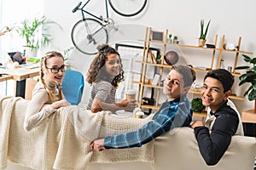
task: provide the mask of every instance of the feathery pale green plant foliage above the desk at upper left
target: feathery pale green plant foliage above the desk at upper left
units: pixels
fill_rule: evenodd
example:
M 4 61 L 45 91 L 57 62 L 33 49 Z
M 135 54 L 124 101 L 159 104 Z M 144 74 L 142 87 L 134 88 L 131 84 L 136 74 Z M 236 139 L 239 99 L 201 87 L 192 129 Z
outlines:
M 22 20 L 18 26 L 15 26 L 15 30 L 19 33 L 20 37 L 25 38 L 26 47 L 43 48 L 52 40 L 51 35 L 45 33 L 48 29 L 47 26 L 50 24 L 61 28 L 55 21 L 48 20 L 45 16 L 42 16 L 33 20 Z

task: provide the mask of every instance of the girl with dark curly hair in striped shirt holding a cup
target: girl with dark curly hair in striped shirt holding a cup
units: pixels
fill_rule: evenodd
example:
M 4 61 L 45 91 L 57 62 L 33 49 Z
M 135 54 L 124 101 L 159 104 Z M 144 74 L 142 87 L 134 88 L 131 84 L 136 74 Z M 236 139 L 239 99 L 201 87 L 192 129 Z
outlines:
M 98 53 L 90 64 L 87 82 L 92 86 L 86 108 L 93 113 L 98 111 L 133 111 L 136 100 L 115 101 L 118 83 L 124 81 L 124 71 L 119 53 L 108 44 L 97 47 Z

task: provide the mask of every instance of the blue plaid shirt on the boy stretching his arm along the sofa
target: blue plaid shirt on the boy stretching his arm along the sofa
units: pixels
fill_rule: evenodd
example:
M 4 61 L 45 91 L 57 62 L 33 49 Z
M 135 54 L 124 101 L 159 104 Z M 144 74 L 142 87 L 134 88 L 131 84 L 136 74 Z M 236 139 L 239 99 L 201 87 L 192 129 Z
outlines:
M 175 127 L 189 127 L 192 107 L 186 96 L 164 102 L 153 121 L 129 133 L 108 136 L 104 139 L 106 149 L 140 147 Z

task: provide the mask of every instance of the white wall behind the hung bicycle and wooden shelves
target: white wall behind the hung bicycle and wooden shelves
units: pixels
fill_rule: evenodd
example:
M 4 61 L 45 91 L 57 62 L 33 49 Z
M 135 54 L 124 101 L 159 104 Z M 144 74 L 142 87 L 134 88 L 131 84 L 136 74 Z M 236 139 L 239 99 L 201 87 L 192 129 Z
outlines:
M 96 14 L 104 12 L 104 3 L 102 0 L 91 1 L 89 8 L 93 8 Z M 72 46 L 71 30 L 72 26 L 79 20 L 79 14 L 73 14 L 71 10 L 79 3 L 79 1 L 69 0 L 44 0 L 44 14 L 51 20 L 58 22 L 63 31 L 52 30 L 55 35 L 54 48 L 69 48 Z M 256 2 L 253 0 L 234 0 L 234 1 L 203 1 L 203 0 L 148 0 L 148 6 L 137 17 L 125 18 L 114 14 L 110 8 L 110 17 L 119 25 L 119 31 L 111 35 L 110 42 L 143 39 L 146 26 L 152 26 L 157 30 L 168 29 L 172 34 L 177 35 L 181 43 L 196 45 L 197 37 L 200 34 L 200 20 L 211 20 L 211 25 L 207 35 L 207 42 L 213 42 L 216 34 L 219 37 L 226 36 L 227 42 L 237 42 L 238 37 L 241 39 L 241 49 L 256 53 L 256 34 L 255 34 L 255 16 L 254 9 Z M 48 49 L 45 49 L 48 50 Z M 183 61 L 189 62 L 186 56 L 189 51 L 186 49 L 180 55 Z M 187 57 L 202 63 L 209 63 L 211 55 L 201 56 L 200 58 L 194 52 L 193 56 Z M 218 54 L 217 54 L 218 56 Z M 75 69 L 83 71 L 86 74 L 87 67 L 92 56 L 86 56 L 73 51 L 70 62 Z M 228 54 L 224 55 L 225 65 L 233 65 L 232 57 Z M 241 65 L 244 65 L 240 59 Z M 203 77 L 203 76 L 200 76 Z M 198 80 L 199 83 L 200 79 Z M 236 77 L 237 81 L 237 77 Z M 236 93 L 242 95 L 245 87 L 238 87 L 236 84 Z M 233 100 L 239 111 L 253 108 L 253 102 L 249 102 L 247 98 L 244 101 Z

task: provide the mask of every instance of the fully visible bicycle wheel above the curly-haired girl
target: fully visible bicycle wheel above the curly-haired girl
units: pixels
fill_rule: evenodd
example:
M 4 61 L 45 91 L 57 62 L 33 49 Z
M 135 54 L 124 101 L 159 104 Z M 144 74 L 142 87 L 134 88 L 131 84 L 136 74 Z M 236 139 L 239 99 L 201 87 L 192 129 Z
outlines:
M 96 47 L 108 43 L 108 31 L 98 20 L 79 20 L 72 29 L 71 38 L 75 48 L 84 54 L 96 54 Z

